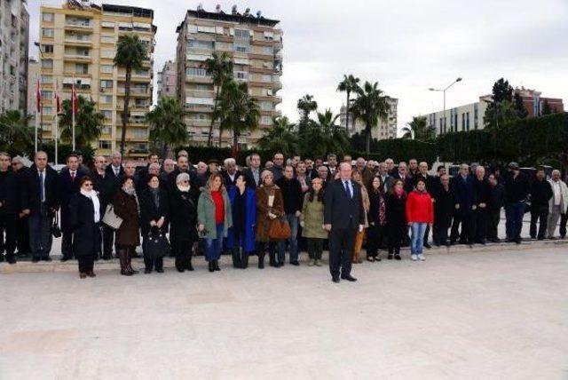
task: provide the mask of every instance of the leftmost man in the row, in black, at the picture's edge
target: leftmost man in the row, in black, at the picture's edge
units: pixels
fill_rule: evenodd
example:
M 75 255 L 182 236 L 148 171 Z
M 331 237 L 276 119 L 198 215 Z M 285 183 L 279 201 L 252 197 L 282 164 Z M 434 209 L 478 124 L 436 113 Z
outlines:
M 0 262 L 16 263 L 16 221 L 20 213 L 20 176 L 12 171 L 10 155 L 0 152 Z M 4 239 L 4 232 L 6 234 Z

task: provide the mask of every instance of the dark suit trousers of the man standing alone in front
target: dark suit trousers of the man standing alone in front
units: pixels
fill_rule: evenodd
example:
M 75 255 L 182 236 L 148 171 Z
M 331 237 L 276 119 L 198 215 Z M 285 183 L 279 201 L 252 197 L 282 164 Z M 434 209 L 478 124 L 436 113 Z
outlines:
M 329 272 L 338 277 L 351 274 L 351 257 L 357 228 L 333 228 L 329 233 Z

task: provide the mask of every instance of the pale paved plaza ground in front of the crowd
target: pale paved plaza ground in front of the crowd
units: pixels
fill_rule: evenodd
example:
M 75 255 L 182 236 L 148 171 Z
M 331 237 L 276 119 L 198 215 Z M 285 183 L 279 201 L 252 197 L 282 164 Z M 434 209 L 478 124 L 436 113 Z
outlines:
M 130 278 L 4 271 L 0 378 L 568 378 L 568 244 L 444 251 L 340 284 L 228 257 L 220 273 L 202 257 Z

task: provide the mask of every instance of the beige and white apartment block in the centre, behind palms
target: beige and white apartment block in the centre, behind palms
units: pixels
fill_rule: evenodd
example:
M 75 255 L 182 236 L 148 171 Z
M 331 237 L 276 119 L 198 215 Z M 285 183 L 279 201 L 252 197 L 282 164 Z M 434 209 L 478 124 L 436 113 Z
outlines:
M 279 20 L 265 19 L 247 11 L 225 13 L 217 5 L 216 12 L 201 7 L 189 10 L 177 27 L 177 97 L 189 112 L 187 131 L 193 144 L 207 142 L 213 110 L 215 89 L 206 74 L 204 61 L 213 51 L 225 51 L 234 63 L 234 78 L 248 83 L 250 95 L 261 110 L 260 127 L 243 133 L 241 147 L 254 146 L 272 126 L 272 117 L 281 115 L 276 106 L 282 99 L 277 92 L 282 88 L 282 30 L 276 28 Z M 218 141 L 218 128 L 214 141 Z M 223 145 L 232 145 L 230 132 L 225 131 Z

